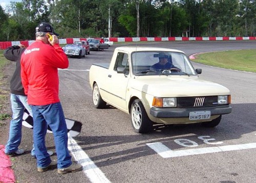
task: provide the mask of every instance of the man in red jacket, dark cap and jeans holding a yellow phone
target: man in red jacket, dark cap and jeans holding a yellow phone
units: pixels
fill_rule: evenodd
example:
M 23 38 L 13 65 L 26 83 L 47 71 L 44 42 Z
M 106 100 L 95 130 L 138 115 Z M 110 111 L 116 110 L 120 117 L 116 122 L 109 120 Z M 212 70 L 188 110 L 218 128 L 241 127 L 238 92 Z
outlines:
M 39 24 L 35 35 L 35 42 L 27 47 L 22 55 L 21 76 L 33 112 L 37 171 L 45 172 L 53 167 L 45 145 L 47 124 L 54 136 L 58 173 L 82 170 L 80 164 L 71 161 L 68 130 L 58 96 L 58 68 L 68 68 L 69 60 L 59 46 L 58 34 L 49 23 Z

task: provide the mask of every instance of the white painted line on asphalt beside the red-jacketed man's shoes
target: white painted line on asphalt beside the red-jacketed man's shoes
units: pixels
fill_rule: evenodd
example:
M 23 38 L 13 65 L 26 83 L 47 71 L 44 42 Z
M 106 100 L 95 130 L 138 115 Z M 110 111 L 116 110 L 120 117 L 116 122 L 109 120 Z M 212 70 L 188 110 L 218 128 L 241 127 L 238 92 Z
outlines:
M 75 160 L 82 165 L 83 172 L 91 182 L 111 183 L 72 137 L 69 137 L 68 148 L 72 152 Z

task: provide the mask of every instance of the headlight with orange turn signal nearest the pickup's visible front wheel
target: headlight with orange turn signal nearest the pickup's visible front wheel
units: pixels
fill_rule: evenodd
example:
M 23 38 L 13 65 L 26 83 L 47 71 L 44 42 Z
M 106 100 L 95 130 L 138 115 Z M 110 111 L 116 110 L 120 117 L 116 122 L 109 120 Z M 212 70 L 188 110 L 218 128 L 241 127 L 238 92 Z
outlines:
M 177 100 L 175 97 L 154 97 L 152 106 L 156 108 L 174 108 L 177 107 Z

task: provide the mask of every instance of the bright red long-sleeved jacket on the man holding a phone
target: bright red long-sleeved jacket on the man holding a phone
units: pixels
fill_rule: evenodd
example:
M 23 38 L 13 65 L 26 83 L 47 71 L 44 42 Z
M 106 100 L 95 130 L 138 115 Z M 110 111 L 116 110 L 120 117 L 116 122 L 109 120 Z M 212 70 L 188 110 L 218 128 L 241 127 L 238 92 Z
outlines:
M 51 46 L 36 40 L 24 51 L 20 62 L 28 103 L 41 106 L 59 102 L 58 68 L 69 66 L 68 57 L 59 44 Z

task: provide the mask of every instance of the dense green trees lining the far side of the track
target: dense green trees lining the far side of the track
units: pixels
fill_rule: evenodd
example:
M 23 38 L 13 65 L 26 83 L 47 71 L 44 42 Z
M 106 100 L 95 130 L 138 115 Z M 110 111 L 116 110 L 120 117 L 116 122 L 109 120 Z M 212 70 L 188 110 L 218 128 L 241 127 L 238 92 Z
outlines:
M 59 38 L 256 36 L 255 0 L 23 0 L 0 6 L 0 41 Z

